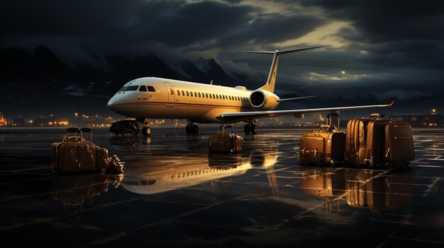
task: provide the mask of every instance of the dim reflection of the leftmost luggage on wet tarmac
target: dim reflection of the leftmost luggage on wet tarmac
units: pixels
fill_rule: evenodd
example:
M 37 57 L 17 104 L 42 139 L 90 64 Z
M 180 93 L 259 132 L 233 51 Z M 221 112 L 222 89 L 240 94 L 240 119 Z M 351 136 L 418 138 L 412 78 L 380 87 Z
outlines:
M 92 206 L 92 199 L 109 187 L 117 188 L 122 179 L 123 174 L 57 175 L 52 180 L 52 199 L 61 201 L 69 212 L 80 211 L 85 204 Z

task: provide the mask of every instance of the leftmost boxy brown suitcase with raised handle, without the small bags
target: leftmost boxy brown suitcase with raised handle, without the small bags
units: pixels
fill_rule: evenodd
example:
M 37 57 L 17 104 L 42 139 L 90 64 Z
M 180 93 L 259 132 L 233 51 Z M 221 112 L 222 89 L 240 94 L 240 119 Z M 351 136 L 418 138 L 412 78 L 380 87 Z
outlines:
M 79 133 L 80 136 L 70 136 L 72 131 Z M 96 146 L 93 143 L 84 141 L 80 129 L 67 129 L 67 135 L 63 141 L 70 142 L 53 143 L 51 145 L 51 166 L 54 172 L 84 172 L 95 170 Z

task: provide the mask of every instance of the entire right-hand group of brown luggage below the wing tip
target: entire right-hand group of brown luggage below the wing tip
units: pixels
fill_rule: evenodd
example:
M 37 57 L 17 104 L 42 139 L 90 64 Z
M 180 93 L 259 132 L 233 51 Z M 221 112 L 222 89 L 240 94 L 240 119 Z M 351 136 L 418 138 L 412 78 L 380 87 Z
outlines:
M 345 161 L 358 165 L 408 165 L 415 158 L 411 126 L 394 122 L 382 114 L 370 118 L 350 119 L 345 133 L 332 126 L 328 114 L 327 125 L 318 131 L 301 136 L 299 160 L 301 163 L 335 164 Z

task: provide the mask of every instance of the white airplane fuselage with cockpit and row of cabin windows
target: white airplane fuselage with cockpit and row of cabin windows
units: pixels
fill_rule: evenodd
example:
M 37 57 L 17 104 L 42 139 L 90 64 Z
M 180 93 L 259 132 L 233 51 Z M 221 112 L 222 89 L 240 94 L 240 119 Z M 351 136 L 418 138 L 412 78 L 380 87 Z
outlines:
M 140 86 L 152 88 L 140 91 Z M 127 117 L 225 123 L 216 116 L 226 112 L 255 111 L 250 105 L 252 91 L 243 87 L 150 77 L 130 81 L 122 89 L 109 100 L 108 107 Z

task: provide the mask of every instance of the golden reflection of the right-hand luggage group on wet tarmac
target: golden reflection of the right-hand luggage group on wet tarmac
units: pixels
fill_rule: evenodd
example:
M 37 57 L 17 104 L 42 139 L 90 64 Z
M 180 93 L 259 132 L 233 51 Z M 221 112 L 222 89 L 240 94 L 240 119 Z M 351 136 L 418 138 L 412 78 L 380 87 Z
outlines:
M 344 198 L 353 208 L 401 208 L 412 201 L 415 175 L 392 171 L 301 167 L 301 189 L 323 200 Z

